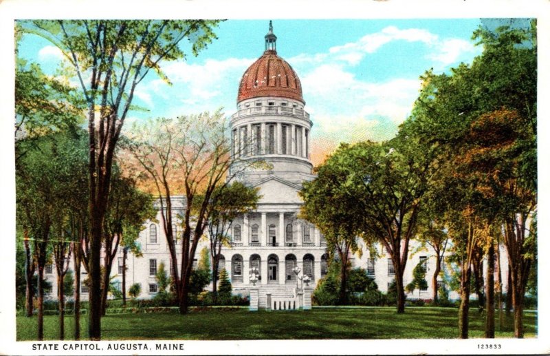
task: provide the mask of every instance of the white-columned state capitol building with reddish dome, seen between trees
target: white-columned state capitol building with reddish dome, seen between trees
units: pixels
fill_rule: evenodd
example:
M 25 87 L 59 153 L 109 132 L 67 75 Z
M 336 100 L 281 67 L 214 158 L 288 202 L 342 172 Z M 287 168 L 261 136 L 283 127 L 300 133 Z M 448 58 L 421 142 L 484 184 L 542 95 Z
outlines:
M 232 242 L 230 247 L 222 248 L 219 263 L 220 271 L 225 269 L 228 272 L 233 293 L 243 296 L 249 295 L 252 287 L 249 271 L 256 267 L 259 275 L 254 288 L 259 290 L 260 308 L 266 306 L 267 293 L 274 297 L 294 293 L 295 267 L 309 276 L 314 288 L 327 273 L 328 259 L 327 246 L 319 229 L 298 218 L 303 204 L 298 191 L 303 182 L 315 178 L 310 160 L 313 123 L 305 108 L 300 78 L 291 65 L 278 56 L 276 40 L 270 23 L 263 54 L 241 78 L 237 111 L 230 121 L 232 155 L 239 158 L 232 169 L 239 169 L 239 165 L 247 160 L 259 159 L 265 161 L 269 169 L 242 169 L 236 175 L 236 179 L 245 185 L 259 188 L 261 199 L 256 210 L 233 221 Z M 184 198 L 173 197 L 173 205 L 175 216 L 183 213 Z M 142 257 L 129 254 L 126 261 L 126 289 L 140 283 L 142 293 L 139 297 L 150 298 L 157 293 L 157 268 L 164 262 L 168 270 L 170 253 L 163 227 L 157 222 L 145 222 L 144 225 L 145 229 L 137 240 L 142 247 Z M 411 244 L 415 242 L 411 241 Z M 206 240 L 200 242 L 197 251 L 206 246 Z M 415 247 L 412 246 L 410 251 Z M 382 257 L 371 258 L 369 249 L 364 245 L 361 248 L 361 257 L 351 256 L 352 267 L 366 269 L 380 291 L 386 292 L 395 275 L 389 255 L 382 251 Z M 122 251 L 118 254 L 118 269 L 113 266 L 111 275 L 113 280 L 121 282 Z M 195 258 L 198 258 L 198 252 Z M 426 266 L 428 289 L 415 290 L 408 297 L 429 299 L 434 287 L 431 277 L 437 261 L 428 248 L 409 256 L 404 284 L 412 280 L 412 269 L 419 262 Z M 46 269 L 46 277 L 55 284 L 54 274 L 48 272 L 52 272 L 51 266 Z M 86 299 L 87 286 L 83 284 L 81 288 L 83 299 Z M 52 290 L 56 290 L 55 285 Z

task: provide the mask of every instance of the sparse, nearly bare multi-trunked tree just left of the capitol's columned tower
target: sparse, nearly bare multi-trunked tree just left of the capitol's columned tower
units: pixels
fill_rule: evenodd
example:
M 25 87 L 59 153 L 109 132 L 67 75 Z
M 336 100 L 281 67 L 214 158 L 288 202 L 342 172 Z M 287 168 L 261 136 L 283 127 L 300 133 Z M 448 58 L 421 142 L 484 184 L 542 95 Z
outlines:
M 208 225 L 212 194 L 228 185 L 243 170 L 258 160 L 231 157 L 228 123 L 221 112 L 179 116 L 176 120 L 159 118 L 135 124 L 128 134 L 126 151 L 151 178 L 158 196 L 161 224 L 164 227 L 171 276 L 179 312 L 187 313 L 188 286 L 192 262 L 199 240 Z M 241 163 L 240 165 L 238 165 Z M 231 168 L 231 169 L 230 169 Z M 181 261 L 178 263 L 171 194 L 185 196 L 181 218 Z

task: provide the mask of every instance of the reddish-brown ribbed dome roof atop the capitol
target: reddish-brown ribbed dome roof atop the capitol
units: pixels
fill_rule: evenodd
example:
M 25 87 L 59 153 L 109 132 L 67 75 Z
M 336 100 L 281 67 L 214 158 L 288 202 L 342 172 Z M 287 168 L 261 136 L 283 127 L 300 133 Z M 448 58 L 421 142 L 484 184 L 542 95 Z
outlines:
M 280 96 L 304 103 L 300 79 L 292 67 L 277 55 L 275 50 L 266 50 L 263 55 L 246 70 L 237 103 L 260 96 Z

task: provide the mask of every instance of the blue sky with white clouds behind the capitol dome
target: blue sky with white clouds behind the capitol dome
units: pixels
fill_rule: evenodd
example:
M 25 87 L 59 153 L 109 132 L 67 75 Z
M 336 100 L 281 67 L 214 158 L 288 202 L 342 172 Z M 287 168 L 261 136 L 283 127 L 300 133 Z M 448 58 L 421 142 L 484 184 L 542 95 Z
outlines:
M 482 48 L 472 32 L 480 19 L 278 20 L 278 55 L 296 71 L 311 114 L 314 164 L 340 142 L 387 140 L 397 133 L 418 96 L 419 76 L 471 63 Z M 263 54 L 269 21 L 228 20 L 218 39 L 186 61 L 164 62 L 173 85 L 151 73 L 135 92 L 127 121 L 236 111 L 241 76 Z M 188 42 L 181 48 L 188 50 Z M 54 75 L 61 52 L 38 36 L 25 35 L 19 55 Z

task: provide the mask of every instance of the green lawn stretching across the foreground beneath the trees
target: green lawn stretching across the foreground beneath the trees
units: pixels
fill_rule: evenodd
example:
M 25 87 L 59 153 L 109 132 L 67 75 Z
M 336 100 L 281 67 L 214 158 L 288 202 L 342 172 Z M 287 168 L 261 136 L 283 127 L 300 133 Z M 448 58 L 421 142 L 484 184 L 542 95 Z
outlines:
M 102 339 L 453 339 L 458 335 L 456 308 L 314 308 L 312 311 L 246 309 L 177 313 L 115 314 L 102 318 Z M 73 317 L 65 319 L 72 339 Z M 58 339 L 58 317 L 44 317 L 45 339 Z M 484 316 L 470 313 L 470 337 L 483 337 Z M 87 316 L 81 317 L 86 335 Z M 525 313 L 525 337 L 536 337 L 536 313 Z M 513 337 L 513 320 L 496 337 Z M 36 317 L 17 317 L 17 340 L 36 339 Z M 84 339 L 84 338 L 83 338 Z

